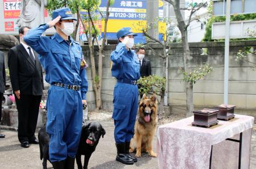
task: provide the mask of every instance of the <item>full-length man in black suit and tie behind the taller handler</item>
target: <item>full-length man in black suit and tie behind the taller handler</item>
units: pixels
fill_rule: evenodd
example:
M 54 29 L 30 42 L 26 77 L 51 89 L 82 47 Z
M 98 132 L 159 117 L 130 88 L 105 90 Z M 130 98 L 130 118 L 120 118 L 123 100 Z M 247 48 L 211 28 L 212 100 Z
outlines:
M 35 129 L 43 94 L 43 73 L 38 54 L 23 41 L 29 29 L 19 28 L 20 44 L 8 53 L 11 86 L 18 109 L 18 138 L 22 147 L 38 143 Z

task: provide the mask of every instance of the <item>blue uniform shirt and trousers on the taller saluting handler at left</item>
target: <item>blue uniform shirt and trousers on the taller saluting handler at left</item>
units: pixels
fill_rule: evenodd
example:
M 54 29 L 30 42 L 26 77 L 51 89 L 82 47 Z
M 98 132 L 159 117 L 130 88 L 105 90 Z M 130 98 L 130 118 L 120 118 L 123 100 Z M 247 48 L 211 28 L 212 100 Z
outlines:
M 41 36 L 48 28 L 48 24 L 42 24 L 24 36 L 24 41 L 40 54 L 46 81 L 81 87 L 77 91 L 53 85 L 49 88 L 46 130 L 51 138 L 49 158 L 56 162 L 75 158 L 82 127 L 82 100 L 86 100 L 88 82 L 86 70 L 80 67 L 83 59 L 80 45 L 70 36 L 70 44 L 57 33 L 51 37 Z

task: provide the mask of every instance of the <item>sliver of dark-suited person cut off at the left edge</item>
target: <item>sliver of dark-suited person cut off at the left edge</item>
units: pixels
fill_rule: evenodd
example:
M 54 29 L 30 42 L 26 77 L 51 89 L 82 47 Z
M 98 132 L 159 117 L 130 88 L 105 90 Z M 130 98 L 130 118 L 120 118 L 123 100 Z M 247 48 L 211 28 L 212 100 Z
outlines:
M 5 55 L 0 51 L 0 132 L 1 132 L 1 119 L 2 119 L 2 100 L 3 93 L 5 92 Z M 5 138 L 5 134 L 0 133 L 0 138 Z

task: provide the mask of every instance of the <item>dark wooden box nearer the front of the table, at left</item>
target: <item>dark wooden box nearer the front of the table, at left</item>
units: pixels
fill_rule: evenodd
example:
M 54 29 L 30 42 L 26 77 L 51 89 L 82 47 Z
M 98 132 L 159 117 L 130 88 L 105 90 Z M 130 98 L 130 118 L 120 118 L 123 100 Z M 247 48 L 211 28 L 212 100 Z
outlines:
M 210 126 L 217 125 L 217 109 L 207 109 L 204 108 L 201 111 L 193 111 L 194 121 L 192 122 L 193 126 L 204 126 L 209 128 Z

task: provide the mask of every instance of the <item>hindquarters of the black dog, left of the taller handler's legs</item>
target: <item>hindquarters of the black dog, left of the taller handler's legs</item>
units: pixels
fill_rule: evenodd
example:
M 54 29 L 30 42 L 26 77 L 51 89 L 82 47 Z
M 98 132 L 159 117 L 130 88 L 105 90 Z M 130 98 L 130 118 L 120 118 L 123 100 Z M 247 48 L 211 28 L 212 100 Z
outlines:
M 43 169 L 47 169 L 47 160 L 49 160 L 49 135 L 46 133 L 46 126 L 42 126 L 42 128 L 38 132 L 38 141 L 40 147 L 40 159 L 43 159 Z M 51 162 L 49 160 L 49 162 Z

